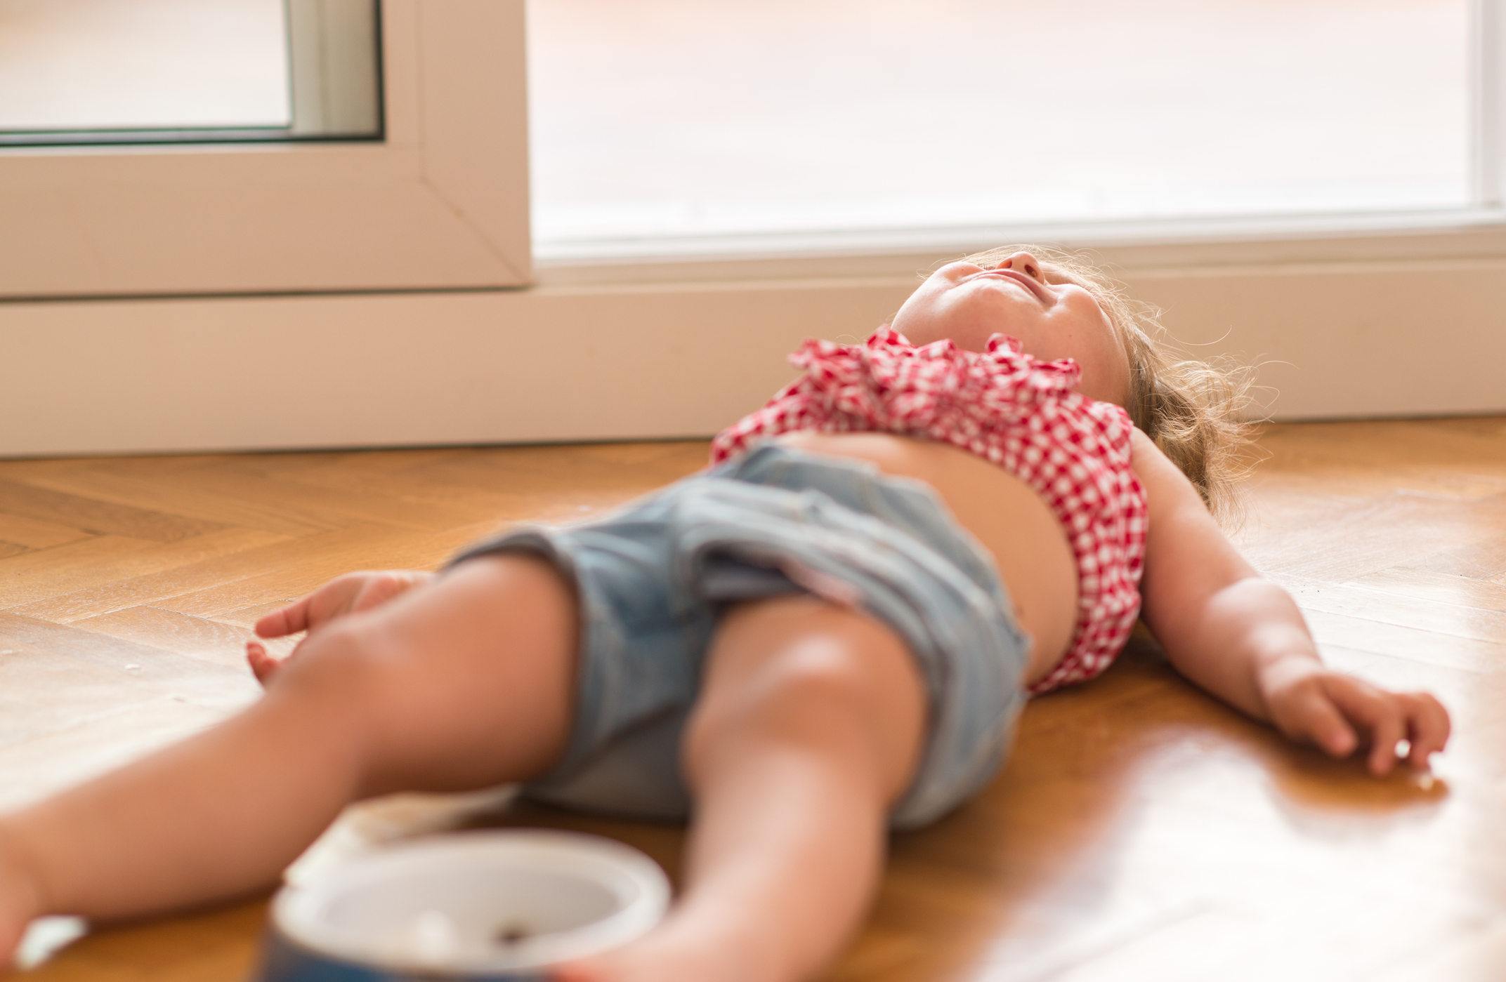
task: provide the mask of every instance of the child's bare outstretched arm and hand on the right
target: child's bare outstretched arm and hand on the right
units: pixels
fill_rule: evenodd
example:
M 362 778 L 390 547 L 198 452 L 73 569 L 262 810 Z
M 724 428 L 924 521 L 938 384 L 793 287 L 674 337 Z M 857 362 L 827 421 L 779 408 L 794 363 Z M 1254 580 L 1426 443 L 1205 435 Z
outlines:
M 1139 430 L 1134 469 L 1151 510 L 1142 615 L 1182 675 L 1333 756 L 1369 743 L 1376 776 L 1395 765 L 1399 740 L 1410 743 L 1414 767 L 1443 749 L 1443 705 L 1324 668 L 1292 599 L 1244 561 L 1191 483 Z

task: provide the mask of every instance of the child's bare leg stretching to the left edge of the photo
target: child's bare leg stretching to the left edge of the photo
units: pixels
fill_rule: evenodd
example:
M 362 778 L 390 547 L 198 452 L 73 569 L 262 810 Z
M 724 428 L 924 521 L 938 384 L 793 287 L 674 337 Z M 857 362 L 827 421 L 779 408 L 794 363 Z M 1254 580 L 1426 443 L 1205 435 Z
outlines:
M 352 800 L 548 770 L 569 732 L 575 623 L 548 564 L 473 559 L 310 636 L 244 713 L 0 818 L 0 965 L 32 916 L 271 884 Z

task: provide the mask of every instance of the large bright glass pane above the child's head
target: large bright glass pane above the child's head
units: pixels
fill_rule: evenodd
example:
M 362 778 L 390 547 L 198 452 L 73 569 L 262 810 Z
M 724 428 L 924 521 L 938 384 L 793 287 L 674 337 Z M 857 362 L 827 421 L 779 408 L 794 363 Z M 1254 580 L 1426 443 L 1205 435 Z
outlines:
M 1468 202 L 1467 0 L 530 0 L 535 236 Z

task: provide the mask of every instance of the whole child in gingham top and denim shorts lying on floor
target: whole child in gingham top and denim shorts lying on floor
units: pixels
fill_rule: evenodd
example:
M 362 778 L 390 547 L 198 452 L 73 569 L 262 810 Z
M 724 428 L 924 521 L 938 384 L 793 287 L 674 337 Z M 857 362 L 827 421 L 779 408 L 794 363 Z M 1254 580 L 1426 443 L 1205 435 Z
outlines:
M 670 916 L 557 977 L 801 979 L 861 919 L 886 830 L 976 794 L 1026 698 L 1102 672 L 1137 618 L 1292 740 L 1367 746 L 1375 774 L 1402 740 L 1414 767 L 1443 749 L 1432 696 L 1325 669 L 1220 534 L 1227 382 L 1098 274 L 973 256 L 795 361 L 702 474 L 262 618 L 309 632 L 286 663 L 250 645 L 265 698 L 0 820 L 0 955 L 39 914 L 264 887 L 364 797 L 524 782 L 691 820 Z

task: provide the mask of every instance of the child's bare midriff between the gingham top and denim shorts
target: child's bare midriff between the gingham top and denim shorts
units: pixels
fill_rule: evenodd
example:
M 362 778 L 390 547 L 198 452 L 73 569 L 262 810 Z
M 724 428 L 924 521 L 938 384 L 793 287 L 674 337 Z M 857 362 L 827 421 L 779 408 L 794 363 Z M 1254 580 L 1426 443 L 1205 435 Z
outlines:
M 992 556 L 1015 623 L 1035 641 L 1026 683 L 1062 660 L 1077 626 L 1077 561 L 1062 523 L 1029 484 L 958 447 L 892 433 L 798 430 L 777 439 L 807 453 L 867 460 L 884 474 L 929 484 Z

